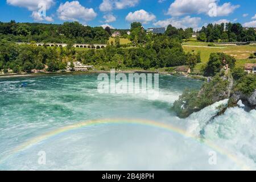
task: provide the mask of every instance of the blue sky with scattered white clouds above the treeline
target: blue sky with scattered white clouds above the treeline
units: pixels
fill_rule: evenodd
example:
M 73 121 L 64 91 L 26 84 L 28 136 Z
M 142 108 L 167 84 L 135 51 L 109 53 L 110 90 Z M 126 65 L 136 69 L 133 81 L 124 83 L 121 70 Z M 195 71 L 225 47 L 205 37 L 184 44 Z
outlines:
M 139 21 L 146 28 L 172 24 L 195 29 L 208 23 L 239 22 L 256 27 L 255 7 L 256 1 L 250 0 L 2 0 L 0 21 L 77 20 L 93 27 L 114 28 L 129 28 L 131 22 Z

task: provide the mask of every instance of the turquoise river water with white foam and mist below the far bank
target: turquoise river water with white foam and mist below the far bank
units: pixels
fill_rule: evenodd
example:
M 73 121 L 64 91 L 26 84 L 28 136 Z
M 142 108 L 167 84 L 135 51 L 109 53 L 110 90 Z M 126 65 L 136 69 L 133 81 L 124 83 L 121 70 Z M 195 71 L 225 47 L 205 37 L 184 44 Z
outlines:
M 26 88 L 20 87 L 23 82 Z M 150 99 L 142 94 L 100 94 L 97 83 L 97 75 L 1 78 L 0 169 L 256 169 L 255 110 L 247 113 L 235 107 L 208 123 L 216 106 L 226 102 L 221 101 L 180 119 L 172 104 L 185 88 L 199 89 L 203 82 L 160 75 L 159 97 Z M 146 125 L 105 124 L 66 131 L 12 152 L 49 131 L 104 118 L 166 123 L 202 140 Z M 46 152 L 46 165 L 38 164 L 39 151 Z M 209 164 L 210 151 L 216 151 L 216 165 Z

